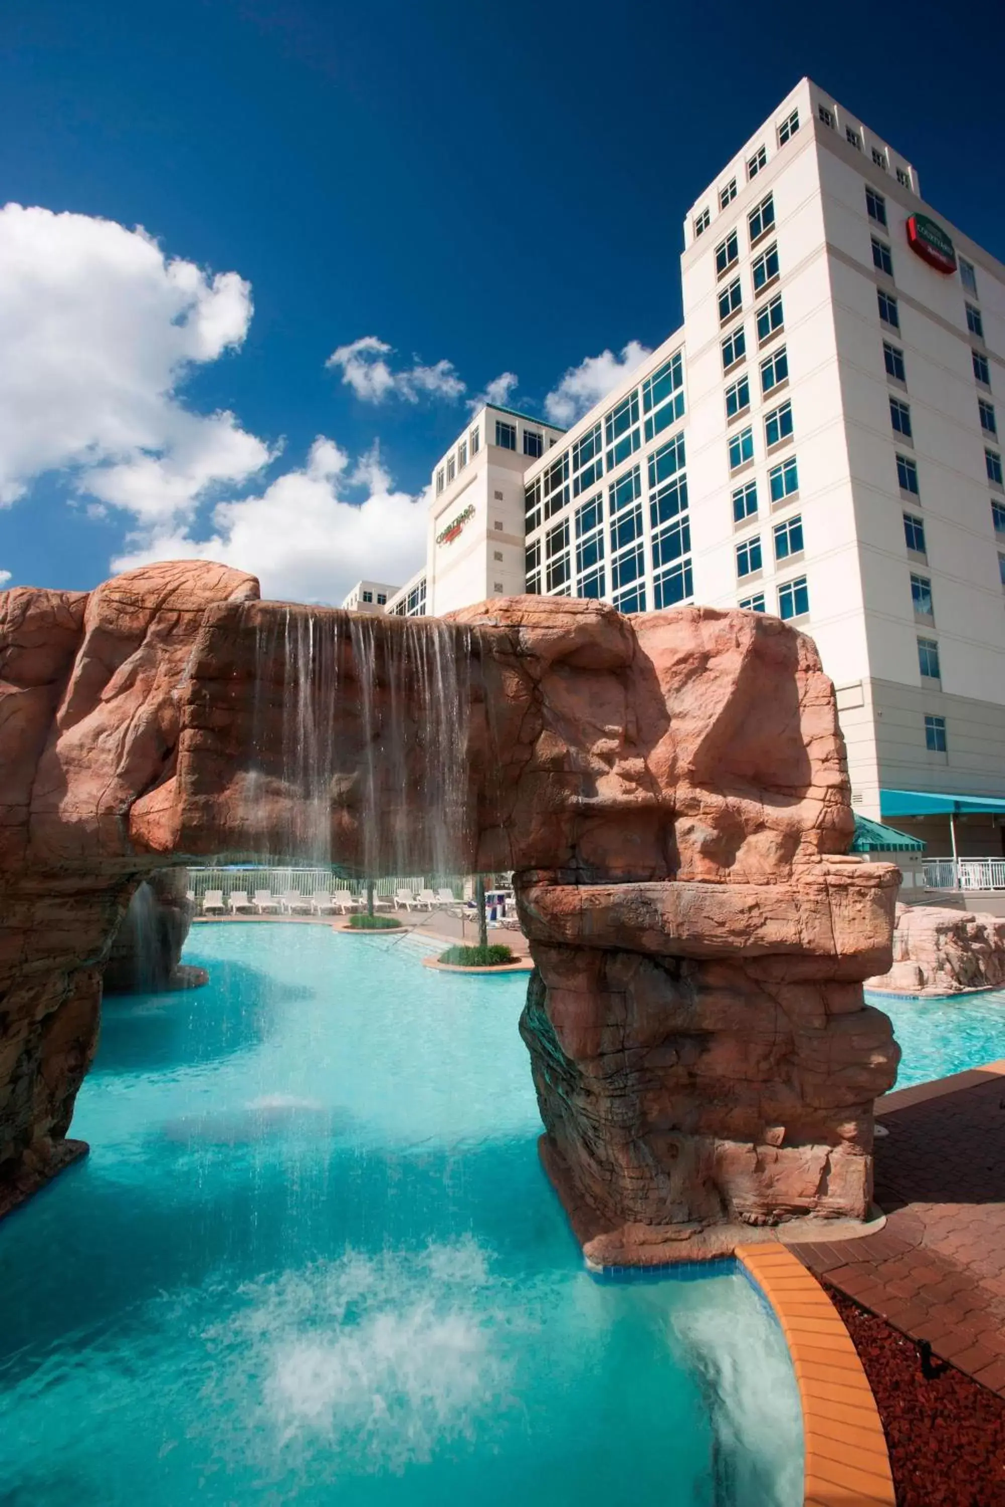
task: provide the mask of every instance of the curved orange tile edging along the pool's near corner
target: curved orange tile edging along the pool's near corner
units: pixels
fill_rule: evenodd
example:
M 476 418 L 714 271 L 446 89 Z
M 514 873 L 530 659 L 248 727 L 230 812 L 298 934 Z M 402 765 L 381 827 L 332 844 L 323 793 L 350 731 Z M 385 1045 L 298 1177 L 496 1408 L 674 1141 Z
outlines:
M 851 1335 L 782 1245 L 734 1251 L 782 1326 L 803 1409 L 805 1507 L 895 1507 L 883 1424 Z

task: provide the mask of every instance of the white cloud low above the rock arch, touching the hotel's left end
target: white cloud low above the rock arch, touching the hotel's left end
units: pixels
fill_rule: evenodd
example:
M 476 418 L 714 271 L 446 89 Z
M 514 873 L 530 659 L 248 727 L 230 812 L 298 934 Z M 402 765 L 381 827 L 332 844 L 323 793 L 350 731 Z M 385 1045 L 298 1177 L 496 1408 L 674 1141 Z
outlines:
M 365 487 L 363 500 L 347 499 Z M 157 559 L 212 559 L 252 571 L 262 595 L 341 603 L 362 576 L 404 582 L 425 559 L 425 494 L 392 490 L 377 446 L 350 467 L 348 455 L 319 436 L 301 470 L 279 476 L 258 497 L 221 502 L 214 532 L 155 532 L 113 561 L 131 570 Z

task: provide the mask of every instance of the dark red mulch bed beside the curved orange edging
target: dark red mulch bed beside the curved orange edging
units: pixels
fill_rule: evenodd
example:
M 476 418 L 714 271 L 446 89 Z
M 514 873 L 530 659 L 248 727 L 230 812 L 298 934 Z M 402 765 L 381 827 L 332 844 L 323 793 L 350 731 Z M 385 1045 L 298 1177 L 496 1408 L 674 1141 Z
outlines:
M 1005 1507 L 1005 1398 L 827 1287 L 859 1352 L 890 1451 L 898 1507 Z

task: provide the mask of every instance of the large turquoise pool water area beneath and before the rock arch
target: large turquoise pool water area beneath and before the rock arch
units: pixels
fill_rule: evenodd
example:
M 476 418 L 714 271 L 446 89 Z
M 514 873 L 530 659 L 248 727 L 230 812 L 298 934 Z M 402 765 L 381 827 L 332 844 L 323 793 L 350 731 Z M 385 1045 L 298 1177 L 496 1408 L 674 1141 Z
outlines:
M 0 1225 L 3 1507 L 796 1507 L 747 1281 L 598 1281 L 536 1160 L 526 980 L 197 927 L 108 1001 L 90 1157 Z

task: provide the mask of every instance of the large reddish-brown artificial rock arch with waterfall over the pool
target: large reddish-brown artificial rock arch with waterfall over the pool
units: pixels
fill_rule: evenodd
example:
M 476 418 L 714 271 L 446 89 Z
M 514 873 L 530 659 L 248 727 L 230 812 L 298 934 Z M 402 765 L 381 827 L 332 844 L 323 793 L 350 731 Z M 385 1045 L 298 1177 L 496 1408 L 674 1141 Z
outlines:
M 583 1237 L 866 1212 L 897 870 L 847 857 L 833 689 L 758 613 L 258 600 L 181 562 L 0 597 L 0 1178 L 65 1154 L 140 879 L 514 870 L 521 1029 Z M 20 1180 L 20 1181 L 18 1181 Z

